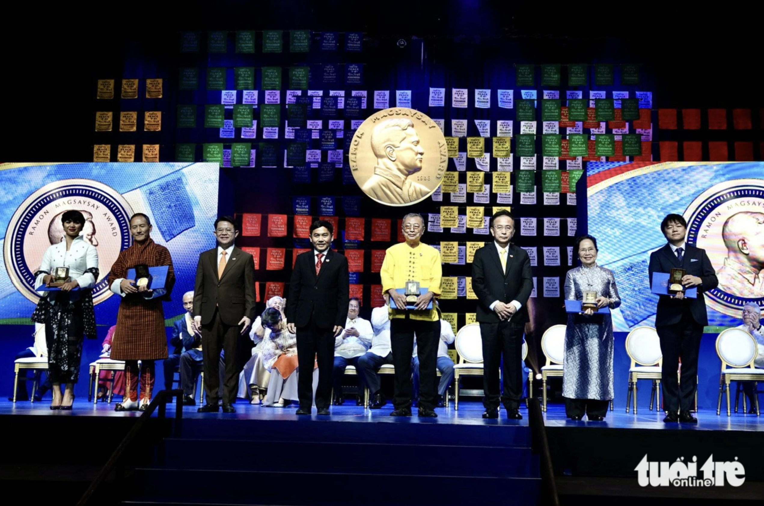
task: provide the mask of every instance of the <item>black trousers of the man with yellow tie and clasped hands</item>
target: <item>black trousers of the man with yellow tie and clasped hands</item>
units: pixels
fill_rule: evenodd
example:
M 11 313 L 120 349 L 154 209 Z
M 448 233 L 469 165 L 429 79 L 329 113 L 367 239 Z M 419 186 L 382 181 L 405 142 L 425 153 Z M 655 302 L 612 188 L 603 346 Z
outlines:
M 523 330 L 524 323 L 500 321 L 481 323 L 483 340 L 483 406 L 499 407 L 499 400 L 509 410 L 520 408 L 523 398 Z M 503 356 L 503 360 L 502 360 Z M 499 391 L 499 367 L 502 369 L 503 392 Z

